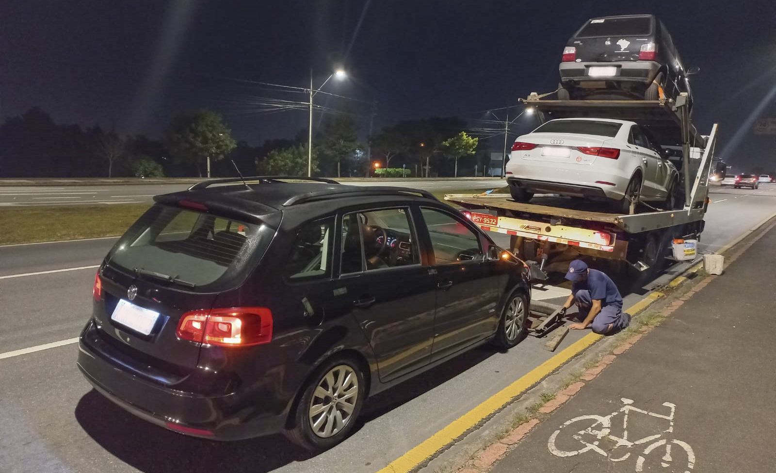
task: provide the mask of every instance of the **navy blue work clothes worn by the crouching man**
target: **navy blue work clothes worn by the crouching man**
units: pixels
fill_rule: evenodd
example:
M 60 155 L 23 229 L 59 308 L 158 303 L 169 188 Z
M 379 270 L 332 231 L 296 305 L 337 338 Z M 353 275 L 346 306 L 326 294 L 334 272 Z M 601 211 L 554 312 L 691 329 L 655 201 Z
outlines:
M 593 332 L 611 335 L 629 325 L 630 315 L 622 312 L 620 291 L 605 273 L 589 270 L 587 280 L 572 283 L 571 294 L 583 318 L 587 318 L 590 313 L 593 301 L 601 301 L 601 311 L 591 323 Z M 611 331 L 607 332 L 609 324 Z

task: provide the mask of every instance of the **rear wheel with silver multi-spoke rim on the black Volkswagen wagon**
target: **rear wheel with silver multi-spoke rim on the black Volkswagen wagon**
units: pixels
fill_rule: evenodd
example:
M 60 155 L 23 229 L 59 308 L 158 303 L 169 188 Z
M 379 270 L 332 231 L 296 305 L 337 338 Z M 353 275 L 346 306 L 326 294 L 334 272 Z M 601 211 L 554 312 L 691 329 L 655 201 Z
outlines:
M 334 384 L 330 385 L 332 382 Z M 321 398 L 316 392 L 318 388 L 330 392 L 331 398 Z M 342 398 L 338 399 L 353 389 L 355 402 L 341 402 Z M 334 356 L 321 364 L 307 380 L 289 419 L 289 428 L 284 430 L 283 434 L 307 450 L 317 451 L 334 447 L 352 432 L 364 404 L 364 395 L 365 378 L 360 363 L 350 356 Z M 347 409 L 350 409 L 349 415 Z M 338 427 L 337 419 L 344 422 L 338 430 L 334 430 Z M 322 423 L 316 426 L 317 421 Z

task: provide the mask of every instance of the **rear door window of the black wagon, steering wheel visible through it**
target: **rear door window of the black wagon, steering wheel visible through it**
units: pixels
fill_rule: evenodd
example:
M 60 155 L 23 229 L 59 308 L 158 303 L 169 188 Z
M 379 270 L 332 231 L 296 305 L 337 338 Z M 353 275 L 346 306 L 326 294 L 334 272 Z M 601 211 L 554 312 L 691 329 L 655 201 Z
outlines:
M 406 207 L 347 214 L 342 224 L 341 272 L 420 264 L 415 230 Z

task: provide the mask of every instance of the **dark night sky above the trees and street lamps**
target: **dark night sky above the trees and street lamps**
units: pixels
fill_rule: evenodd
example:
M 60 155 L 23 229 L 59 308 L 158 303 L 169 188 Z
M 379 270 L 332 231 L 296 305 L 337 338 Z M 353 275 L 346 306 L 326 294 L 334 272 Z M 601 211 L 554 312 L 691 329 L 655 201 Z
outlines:
M 246 81 L 309 87 L 313 68 L 317 87 L 344 63 L 349 78 L 324 90 L 376 101 L 376 130 L 431 115 L 477 126 L 484 110 L 554 90 L 585 19 L 629 13 L 660 16 L 685 65 L 702 69 L 693 117 L 702 132 L 720 124 L 718 155 L 776 167 L 776 136 L 747 126 L 760 105 L 776 117 L 776 2 L 765 0 L 4 0 L 0 113 L 37 105 L 57 123 L 161 137 L 172 114 L 209 106 L 237 139 L 261 144 L 293 137 L 307 112 L 258 113 L 256 97 L 306 96 Z M 366 134 L 367 103 L 316 100 L 349 105 Z M 511 140 L 533 120 L 518 120 Z

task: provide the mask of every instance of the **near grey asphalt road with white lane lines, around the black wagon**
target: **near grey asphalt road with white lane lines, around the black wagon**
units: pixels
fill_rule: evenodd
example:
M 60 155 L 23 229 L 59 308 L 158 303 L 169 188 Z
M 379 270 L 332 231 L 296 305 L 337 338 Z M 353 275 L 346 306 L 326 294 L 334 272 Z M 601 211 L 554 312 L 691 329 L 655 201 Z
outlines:
M 492 186 L 492 183 L 489 184 Z M 715 189 L 701 249 L 715 250 L 776 213 L 776 186 Z M 494 234 L 495 235 L 495 234 Z M 499 236 L 499 235 L 497 235 Z M 547 360 L 544 340 L 481 348 L 369 399 L 359 430 L 310 457 L 281 436 L 213 443 L 151 426 L 91 390 L 70 343 L 91 310 L 95 268 L 114 239 L 0 247 L 0 471 L 348 471 L 372 473 Z M 71 268 L 83 268 L 68 270 Z M 67 270 L 57 273 L 32 274 Z M 10 277 L 9 277 L 10 276 Z M 556 300 L 563 288 L 535 290 Z M 625 306 L 642 296 L 628 294 Z M 571 332 L 568 346 L 584 332 Z

